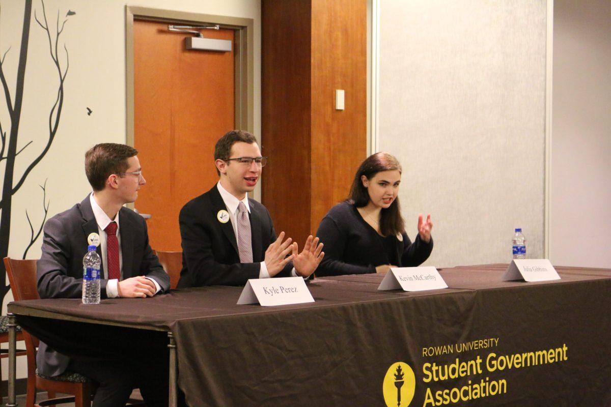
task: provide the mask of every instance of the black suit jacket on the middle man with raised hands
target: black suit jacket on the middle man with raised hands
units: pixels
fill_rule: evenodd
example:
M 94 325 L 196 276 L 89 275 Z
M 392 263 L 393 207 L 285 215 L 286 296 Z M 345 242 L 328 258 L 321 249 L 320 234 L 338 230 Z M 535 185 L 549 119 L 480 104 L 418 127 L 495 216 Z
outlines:
M 218 187 L 197 196 L 183 206 L 178 217 L 183 247 L 183 269 L 178 288 L 199 286 L 241 286 L 259 278 L 265 251 L 276 240 L 276 231 L 265 206 L 248 200 L 251 213 L 252 263 L 240 263 L 238 243 L 231 221 L 221 223 L 217 214 L 227 206 Z M 293 264 L 277 277 L 291 275 Z

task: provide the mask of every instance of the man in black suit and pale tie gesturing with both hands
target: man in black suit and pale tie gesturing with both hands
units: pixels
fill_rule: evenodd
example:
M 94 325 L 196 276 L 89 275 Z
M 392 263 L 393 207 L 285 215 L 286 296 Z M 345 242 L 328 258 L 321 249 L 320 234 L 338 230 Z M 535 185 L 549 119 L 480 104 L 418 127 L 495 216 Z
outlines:
M 324 253 L 318 238 L 309 236 L 299 253 L 297 243 L 276 239 L 265 206 L 248 198 L 267 157 L 255 137 L 230 131 L 214 148 L 219 182 L 189 201 L 180 211 L 183 269 L 178 288 L 240 286 L 251 278 L 309 277 Z

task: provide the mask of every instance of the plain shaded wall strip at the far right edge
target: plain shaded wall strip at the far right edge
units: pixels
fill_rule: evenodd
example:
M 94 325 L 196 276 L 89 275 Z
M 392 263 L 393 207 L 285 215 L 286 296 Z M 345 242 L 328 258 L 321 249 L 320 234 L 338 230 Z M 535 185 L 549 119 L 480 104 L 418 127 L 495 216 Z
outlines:
M 554 1 L 550 259 L 611 267 L 611 2 Z

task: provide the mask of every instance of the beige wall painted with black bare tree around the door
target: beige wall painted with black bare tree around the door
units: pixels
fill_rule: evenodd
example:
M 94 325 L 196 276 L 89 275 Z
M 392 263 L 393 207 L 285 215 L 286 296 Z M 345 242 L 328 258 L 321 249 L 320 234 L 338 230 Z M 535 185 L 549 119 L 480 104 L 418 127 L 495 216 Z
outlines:
M 57 74 L 49 56 L 45 32 L 34 21 L 34 10 L 42 16 L 42 4 L 34 0 L 24 85 L 18 148 L 30 140 L 33 143 L 18 156 L 15 174 L 21 174 L 27 164 L 42 151 L 48 135 L 48 114 L 57 92 Z M 42 190 L 47 181 L 49 217 L 80 202 L 90 187 L 84 175 L 84 152 L 95 143 L 125 143 L 125 5 L 205 13 L 254 19 L 254 128 L 260 135 L 260 0 L 46 0 L 49 23 L 54 27 L 57 11 L 60 23 L 68 10 L 70 16 L 60 37 L 68 49 L 70 68 L 65 81 L 64 109 L 56 139 L 45 158 L 32 171 L 23 188 L 14 196 L 9 256 L 21 258 L 30 239 L 27 209 L 34 225 L 42 221 Z M 3 1 L 0 15 L 0 52 L 12 46 L 4 62 L 11 92 L 15 88 L 15 74 L 23 23 L 23 1 Z M 65 52 L 59 52 L 65 64 Z M 4 100 L 4 98 L 2 98 Z M 5 106 L 4 104 L 0 104 Z M 93 110 L 88 116 L 86 107 Z M 0 120 L 7 126 L 8 117 L 0 108 Z M 146 168 L 144 168 L 146 171 Z M 0 167 L 0 173 L 4 168 Z M 153 187 L 153 185 L 148 185 Z M 203 187 L 202 187 L 203 188 Z M 27 258 L 40 257 L 41 240 L 34 244 Z M 12 301 L 10 293 L 5 304 Z M 21 358 L 20 358 L 21 359 Z M 6 359 L 2 359 L 3 363 Z M 5 367 L 5 366 L 4 366 Z M 5 378 L 6 369 L 2 369 Z M 21 370 L 20 377 L 23 377 Z

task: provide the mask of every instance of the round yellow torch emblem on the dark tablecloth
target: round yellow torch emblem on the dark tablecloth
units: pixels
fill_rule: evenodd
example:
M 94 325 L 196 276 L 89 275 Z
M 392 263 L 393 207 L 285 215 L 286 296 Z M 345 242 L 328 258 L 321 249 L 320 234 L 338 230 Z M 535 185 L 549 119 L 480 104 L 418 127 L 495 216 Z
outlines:
M 416 376 L 405 362 L 390 365 L 384 376 L 382 392 L 387 407 L 408 407 L 414 398 Z

